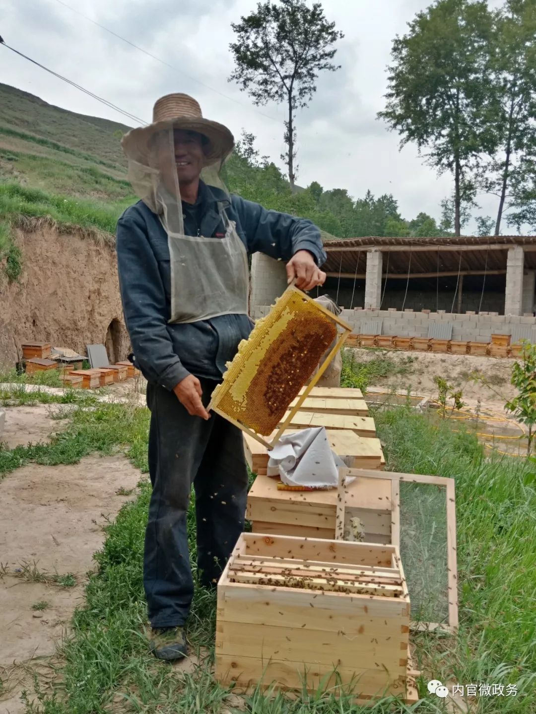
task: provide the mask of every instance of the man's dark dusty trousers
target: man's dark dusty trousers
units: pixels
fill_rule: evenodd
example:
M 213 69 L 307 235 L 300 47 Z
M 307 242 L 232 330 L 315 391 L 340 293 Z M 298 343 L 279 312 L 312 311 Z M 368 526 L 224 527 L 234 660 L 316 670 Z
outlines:
M 201 380 L 204 406 L 216 381 Z M 190 416 L 173 392 L 147 385 L 149 474 L 153 493 L 143 558 L 153 628 L 183 625 L 193 598 L 186 511 L 195 491 L 197 568 L 202 585 L 218 582 L 243 531 L 248 473 L 242 432 L 211 412 Z

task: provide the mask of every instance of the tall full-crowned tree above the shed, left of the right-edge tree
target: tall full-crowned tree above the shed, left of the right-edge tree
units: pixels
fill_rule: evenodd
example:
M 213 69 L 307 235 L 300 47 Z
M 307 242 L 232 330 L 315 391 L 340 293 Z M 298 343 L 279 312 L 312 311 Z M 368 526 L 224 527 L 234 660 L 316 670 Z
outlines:
M 472 169 L 495 146 L 488 121 L 491 37 L 485 0 L 436 0 L 393 41 L 386 106 L 378 114 L 398 130 L 401 148 L 415 141 L 430 165 L 452 174 L 457 236 L 462 202 L 470 189 L 474 195 Z

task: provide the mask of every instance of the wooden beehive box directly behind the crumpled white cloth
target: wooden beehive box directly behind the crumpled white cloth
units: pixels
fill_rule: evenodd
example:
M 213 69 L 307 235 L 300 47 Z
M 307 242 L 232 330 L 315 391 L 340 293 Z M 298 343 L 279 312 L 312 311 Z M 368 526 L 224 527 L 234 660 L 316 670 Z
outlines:
M 283 433 L 283 436 L 295 433 L 295 431 L 295 429 L 288 429 Z M 353 431 L 344 429 L 326 430 L 325 433 L 333 451 L 343 459 L 349 468 L 384 468 L 385 458 L 380 439 L 363 438 Z M 266 476 L 268 448 L 245 433 L 244 453 L 251 471 Z

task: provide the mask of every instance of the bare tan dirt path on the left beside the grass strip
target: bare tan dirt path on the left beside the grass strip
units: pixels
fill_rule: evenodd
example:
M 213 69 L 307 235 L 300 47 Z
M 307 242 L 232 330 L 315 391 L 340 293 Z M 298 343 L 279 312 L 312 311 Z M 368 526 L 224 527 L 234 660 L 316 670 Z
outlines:
M 4 441 L 45 440 L 61 421 L 48 408 L 6 408 Z M 21 714 L 34 666 L 46 670 L 103 542 L 102 526 L 132 496 L 140 473 L 123 456 L 88 456 L 73 466 L 30 464 L 0 481 L 0 711 Z M 74 575 L 76 585 L 54 583 Z M 44 582 L 39 582 L 44 580 Z M 70 578 L 63 581 L 66 585 Z M 46 603 L 35 610 L 37 603 Z M 49 676 L 52 676 L 49 670 Z

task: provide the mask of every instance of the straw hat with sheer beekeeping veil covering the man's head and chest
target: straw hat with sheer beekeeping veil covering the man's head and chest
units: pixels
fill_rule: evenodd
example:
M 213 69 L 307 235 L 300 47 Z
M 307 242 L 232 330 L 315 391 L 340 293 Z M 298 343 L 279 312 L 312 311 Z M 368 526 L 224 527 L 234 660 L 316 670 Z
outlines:
M 247 314 L 246 248 L 228 220 L 230 198 L 220 177 L 233 150 L 231 131 L 204 119 L 198 102 L 186 94 L 156 101 L 153 123 L 132 129 L 121 145 L 128 178 L 146 206 L 158 215 L 168 235 L 171 261 L 170 322 L 195 322 L 228 313 Z M 200 191 L 213 191 L 211 202 L 221 234 L 187 236 L 181 185 L 201 178 Z M 196 208 L 194 206 L 194 208 Z M 199 226 L 199 221 L 198 221 Z

